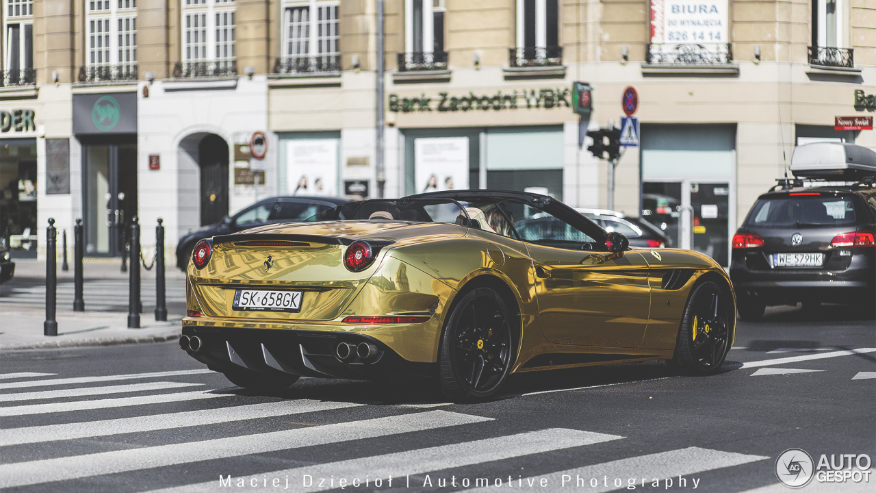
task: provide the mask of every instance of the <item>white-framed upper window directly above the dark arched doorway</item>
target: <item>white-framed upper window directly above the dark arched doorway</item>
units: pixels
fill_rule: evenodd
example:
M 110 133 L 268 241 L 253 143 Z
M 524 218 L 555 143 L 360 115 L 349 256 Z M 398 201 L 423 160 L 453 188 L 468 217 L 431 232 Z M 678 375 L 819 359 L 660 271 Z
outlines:
M 182 63 L 175 77 L 237 75 L 234 0 L 185 0 Z

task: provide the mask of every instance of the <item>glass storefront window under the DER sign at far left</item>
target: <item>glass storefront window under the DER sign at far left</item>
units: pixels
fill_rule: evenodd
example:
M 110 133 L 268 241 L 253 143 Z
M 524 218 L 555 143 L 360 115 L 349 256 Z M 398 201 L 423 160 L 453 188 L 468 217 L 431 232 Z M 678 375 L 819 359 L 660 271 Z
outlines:
M 0 237 L 13 254 L 37 248 L 37 145 L 0 140 Z M 23 256 L 28 256 L 27 254 Z

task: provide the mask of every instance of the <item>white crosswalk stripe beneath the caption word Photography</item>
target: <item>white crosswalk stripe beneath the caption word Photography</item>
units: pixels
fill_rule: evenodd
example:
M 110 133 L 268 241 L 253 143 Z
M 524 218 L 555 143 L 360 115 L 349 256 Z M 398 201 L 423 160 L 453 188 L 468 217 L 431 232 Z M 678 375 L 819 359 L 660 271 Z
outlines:
M 653 478 L 660 478 L 662 480 L 675 476 L 693 475 L 713 469 L 729 468 L 766 459 L 769 459 L 769 457 L 688 447 L 560 471 L 549 475 L 550 480 L 547 487 L 542 488 L 536 482 L 534 483 L 535 486 L 529 490 L 554 491 L 563 487 L 569 488 L 580 485 L 586 487 L 588 493 L 606 493 L 627 488 L 630 484 L 629 481 L 633 479 L 635 480 L 635 485 L 640 486 L 644 483 L 650 486 L 652 485 Z M 539 479 L 542 477 L 548 477 L 548 475 L 541 475 Z M 597 485 L 592 486 L 590 480 L 595 478 L 598 478 Z M 615 482 L 618 479 L 622 483 L 620 486 Z M 692 482 L 692 478 L 687 479 Z M 523 481 L 526 483 L 526 479 Z M 689 484 L 688 486 L 692 485 Z M 495 488 L 490 486 L 465 489 L 463 491 L 464 493 L 486 493 L 487 491 L 495 491 Z

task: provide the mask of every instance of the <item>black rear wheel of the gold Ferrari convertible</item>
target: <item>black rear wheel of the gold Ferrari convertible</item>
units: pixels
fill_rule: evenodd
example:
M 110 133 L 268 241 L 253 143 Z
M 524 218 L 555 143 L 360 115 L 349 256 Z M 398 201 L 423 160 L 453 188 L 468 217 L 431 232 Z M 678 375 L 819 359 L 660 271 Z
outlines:
M 463 297 L 442 336 L 440 380 L 444 395 L 457 402 L 494 395 L 511 369 L 512 312 L 492 289 Z

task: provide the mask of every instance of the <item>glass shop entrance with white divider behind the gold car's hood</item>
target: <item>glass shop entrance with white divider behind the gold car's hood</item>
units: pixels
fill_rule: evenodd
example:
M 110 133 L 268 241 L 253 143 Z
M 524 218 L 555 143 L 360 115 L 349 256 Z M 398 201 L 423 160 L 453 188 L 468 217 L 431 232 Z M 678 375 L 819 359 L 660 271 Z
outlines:
M 730 183 L 642 183 L 642 218 L 660 228 L 672 247 L 702 252 L 728 266 Z

